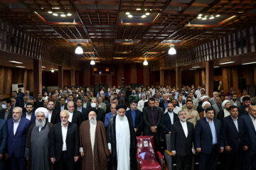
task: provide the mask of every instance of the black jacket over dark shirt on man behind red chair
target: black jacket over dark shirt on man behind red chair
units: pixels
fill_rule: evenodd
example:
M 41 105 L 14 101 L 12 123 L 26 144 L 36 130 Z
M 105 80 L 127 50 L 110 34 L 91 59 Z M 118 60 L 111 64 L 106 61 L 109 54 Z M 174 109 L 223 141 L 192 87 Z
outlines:
M 143 108 L 143 121 L 144 121 L 144 133 L 149 134 L 151 133 L 151 126 L 153 123 L 152 116 L 151 116 L 151 108 L 147 106 Z M 157 126 L 157 132 L 159 132 L 159 125 L 161 123 L 161 109 L 154 106 L 154 120 Z

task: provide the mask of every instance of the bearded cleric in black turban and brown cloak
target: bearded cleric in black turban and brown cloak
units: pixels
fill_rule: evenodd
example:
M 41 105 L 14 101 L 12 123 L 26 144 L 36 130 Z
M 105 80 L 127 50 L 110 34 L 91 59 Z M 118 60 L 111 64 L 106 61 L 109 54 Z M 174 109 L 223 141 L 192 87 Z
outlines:
M 97 120 L 96 108 L 89 108 L 88 118 L 80 125 L 81 169 L 107 170 L 110 152 L 104 124 Z

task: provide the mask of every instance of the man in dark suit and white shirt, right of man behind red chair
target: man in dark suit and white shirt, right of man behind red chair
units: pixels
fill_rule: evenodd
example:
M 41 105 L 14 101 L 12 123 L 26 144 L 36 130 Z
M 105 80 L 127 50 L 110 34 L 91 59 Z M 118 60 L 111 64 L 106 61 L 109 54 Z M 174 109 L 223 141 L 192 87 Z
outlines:
M 171 134 L 171 126 L 178 122 L 178 115 L 177 113 L 174 113 L 174 105 L 172 103 L 168 103 L 167 109 L 168 111 L 164 113 L 163 117 L 161 118 L 161 128 L 164 131 L 164 139 L 165 134 Z

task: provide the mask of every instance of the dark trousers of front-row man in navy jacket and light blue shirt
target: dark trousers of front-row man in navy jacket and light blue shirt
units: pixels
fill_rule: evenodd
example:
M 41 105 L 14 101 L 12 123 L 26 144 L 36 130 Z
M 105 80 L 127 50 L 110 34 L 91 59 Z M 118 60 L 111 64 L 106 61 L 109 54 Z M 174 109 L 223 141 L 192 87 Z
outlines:
M 200 153 L 199 170 L 215 170 L 218 162 L 218 145 L 213 145 L 210 154 Z

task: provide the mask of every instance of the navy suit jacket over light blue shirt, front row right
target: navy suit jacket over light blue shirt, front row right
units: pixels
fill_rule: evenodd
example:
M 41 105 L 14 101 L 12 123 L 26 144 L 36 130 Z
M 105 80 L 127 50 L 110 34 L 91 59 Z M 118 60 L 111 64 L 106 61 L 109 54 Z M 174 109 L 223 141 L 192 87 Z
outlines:
M 222 129 L 220 120 L 213 118 L 213 123 L 215 126 L 218 147 L 223 147 L 223 136 L 221 134 Z M 213 146 L 213 136 L 210 130 L 210 125 L 206 121 L 206 118 L 201 118 L 196 122 L 195 143 L 196 148 L 201 148 L 201 152 L 210 154 Z

